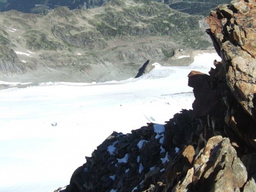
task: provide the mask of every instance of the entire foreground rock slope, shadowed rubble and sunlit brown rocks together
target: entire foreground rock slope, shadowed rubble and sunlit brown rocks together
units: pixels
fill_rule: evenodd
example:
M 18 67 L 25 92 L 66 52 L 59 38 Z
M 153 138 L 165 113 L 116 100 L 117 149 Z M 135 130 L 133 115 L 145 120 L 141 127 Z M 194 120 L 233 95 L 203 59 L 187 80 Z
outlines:
M 193 110 L 114 132 L 63 192 L 256 191 L 256 1 L 220 5 L 207 22 L 222 61 L 188 75 Z

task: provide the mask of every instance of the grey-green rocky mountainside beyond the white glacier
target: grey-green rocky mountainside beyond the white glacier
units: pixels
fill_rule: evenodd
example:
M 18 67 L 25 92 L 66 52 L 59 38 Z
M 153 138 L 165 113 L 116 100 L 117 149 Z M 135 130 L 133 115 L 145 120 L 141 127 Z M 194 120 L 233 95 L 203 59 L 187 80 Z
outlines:
M 110 0 L 93 9 L 57 7 L 45 14 L 1 12 L 0 77 L 31 82 L 135 77 L 148 59 L 171 65 L 181 48 L 211 47 L 206 28 L 204 17 L 154 1 Z

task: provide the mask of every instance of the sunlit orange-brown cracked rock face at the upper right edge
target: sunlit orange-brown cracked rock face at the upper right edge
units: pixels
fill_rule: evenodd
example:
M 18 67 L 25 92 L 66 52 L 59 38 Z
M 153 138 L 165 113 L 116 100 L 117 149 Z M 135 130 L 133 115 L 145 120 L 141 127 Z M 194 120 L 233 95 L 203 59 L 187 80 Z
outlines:
M 256 2 L 233 0 L 207 18 L 237 101 L 256 121 Z

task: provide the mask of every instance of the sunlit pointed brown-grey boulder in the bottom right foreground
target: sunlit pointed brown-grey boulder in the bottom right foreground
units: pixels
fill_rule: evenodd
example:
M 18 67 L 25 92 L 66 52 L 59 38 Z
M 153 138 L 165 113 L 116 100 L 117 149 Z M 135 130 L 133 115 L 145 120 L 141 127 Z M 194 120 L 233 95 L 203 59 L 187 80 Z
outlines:
M 208 140 L 196 157 L 193 168 L 192 182 L 199 191 L 235 191 L 247 181 L 245 166 L 229 139 L 221 136 Z

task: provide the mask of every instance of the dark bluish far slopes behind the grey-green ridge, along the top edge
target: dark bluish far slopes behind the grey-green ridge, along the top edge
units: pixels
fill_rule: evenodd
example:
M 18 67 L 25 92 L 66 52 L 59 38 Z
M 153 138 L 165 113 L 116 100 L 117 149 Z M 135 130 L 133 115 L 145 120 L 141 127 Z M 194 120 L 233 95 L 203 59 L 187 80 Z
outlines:
M 48 9 L 65 6 L 69 9 L 88 9 L 102 6 L 109 0 L 0 0 L 0 11 L 17 10 L 24 13 L 43 13 Z M 143 2 L 147 0 L 137 0 Z M 231 0 L 153 0 L 169 5 L 172 9 L 188 14 L 207 16 L 209 10 Z

